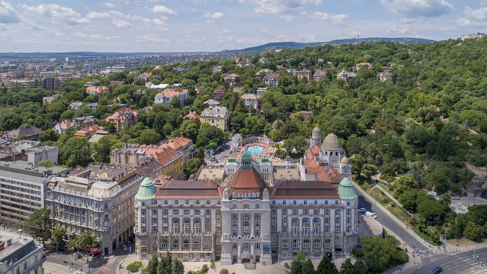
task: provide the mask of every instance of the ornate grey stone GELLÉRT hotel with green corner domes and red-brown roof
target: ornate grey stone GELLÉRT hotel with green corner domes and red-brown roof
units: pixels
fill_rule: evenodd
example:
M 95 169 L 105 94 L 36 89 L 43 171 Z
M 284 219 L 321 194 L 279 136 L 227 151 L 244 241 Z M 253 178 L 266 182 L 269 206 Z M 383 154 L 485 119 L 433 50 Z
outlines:
M 314 138 L 318 143 L 321 132 L 318 136 L 315 129 Z M 230 174 L 221 181 L 173 180 L 156 188 L 145 178 L 135 196 L 136 257 L 169 251 L 183 261 L 215 259 L 225 265 L 271 264 L 298 253 L 311 259 L 349 255 L 358 234 L 350 163 L 335 135 L 318 147 L 306 154 L 318 150 L 328 158 L 305 156 L 295 164 L 300 174 L 295 178 L 270 180 L 268 169 L 275 168 L 269 159 L 258 162 L 249 152 L 241 161 L 232 157 L 225 162 L 223 169 Z M 348 170 L 342 177 L 334 166 Z

